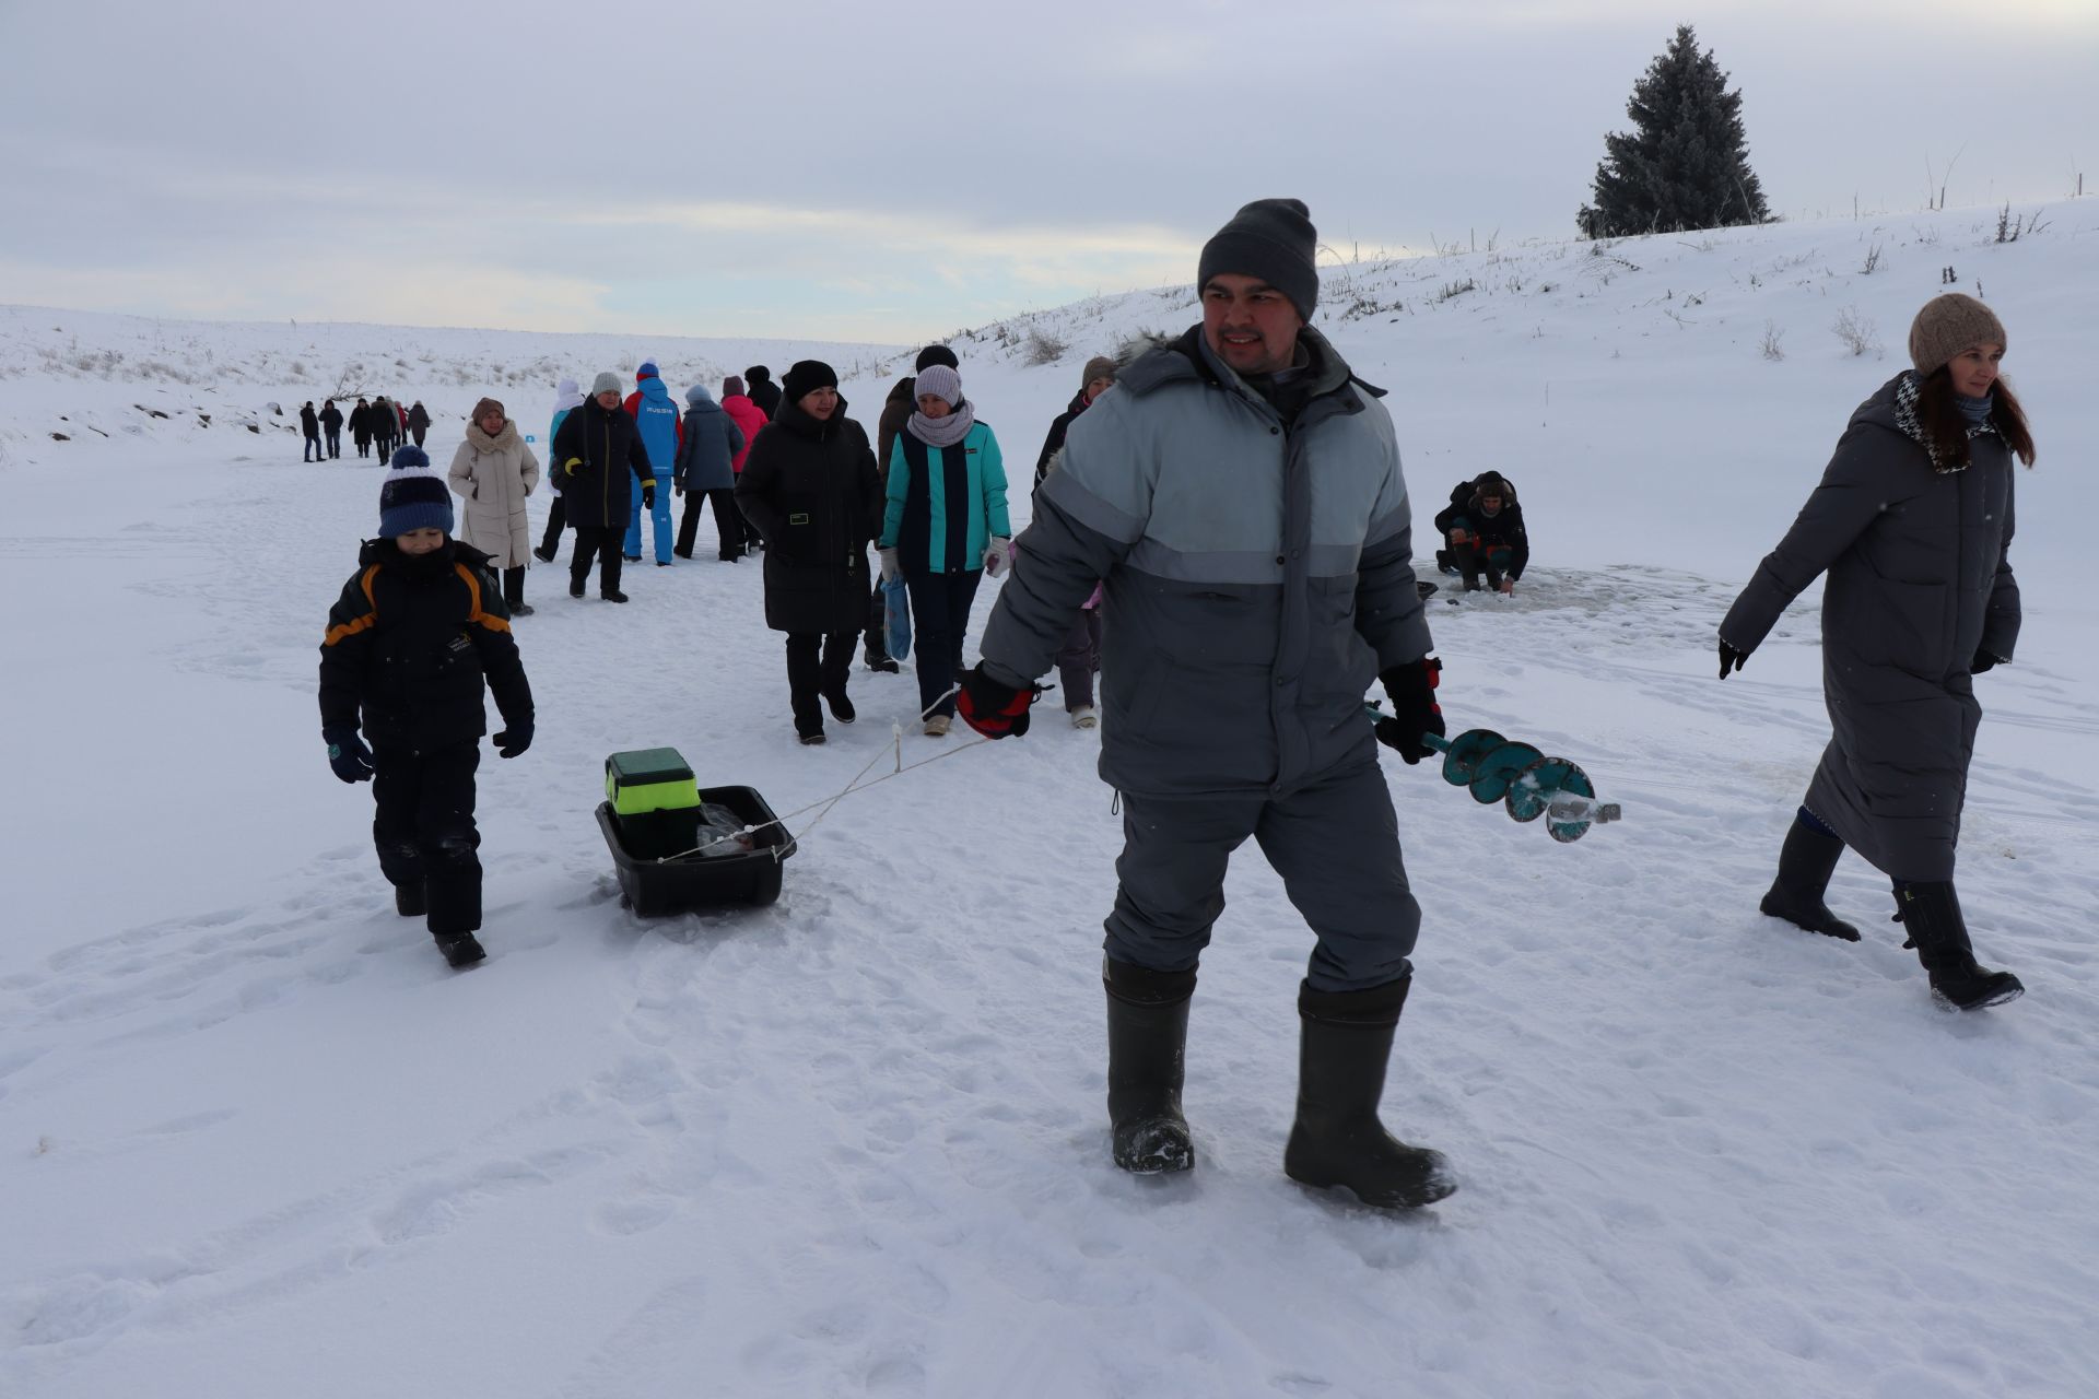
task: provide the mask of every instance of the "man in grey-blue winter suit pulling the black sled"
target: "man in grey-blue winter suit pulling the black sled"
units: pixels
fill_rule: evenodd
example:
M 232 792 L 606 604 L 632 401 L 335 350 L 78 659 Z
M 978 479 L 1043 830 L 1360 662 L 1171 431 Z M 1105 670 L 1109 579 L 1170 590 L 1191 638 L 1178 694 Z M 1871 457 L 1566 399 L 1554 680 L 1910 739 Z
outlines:
M 1100 774 L 1125 833 L 1102 977 L 1115 1164 L 1194 1164 L 1188 1003 L 1251 835 L 1318 938 L 1282 1168 L 1408 1208 L 1455 1183 L 1377 1116 L 1421 923 L 1377 745 L 1429 755 L 1438 665 L 1392 417 L 1306 325 L 1314 247 L 1295 199 L 1245 206 L 1203 247 L 1203 323 L 1070 424 L 957 713 L 993 738 L 1026 732 L 1035 677 L 1106 583 Z M 1394 703 L 1375 730 L 1373 680 Z

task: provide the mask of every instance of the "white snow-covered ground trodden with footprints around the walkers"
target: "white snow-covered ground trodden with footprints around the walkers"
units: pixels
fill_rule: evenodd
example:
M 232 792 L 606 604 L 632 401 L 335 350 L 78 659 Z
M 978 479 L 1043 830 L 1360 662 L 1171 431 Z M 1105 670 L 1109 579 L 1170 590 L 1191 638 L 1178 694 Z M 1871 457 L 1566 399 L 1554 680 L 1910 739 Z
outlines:
M 607 753 L 793 812 L 888 770 L 915 707 L 858 673 L 861 722 L 796 747 L 756 564 L 630 568 L 626 608 L 533 571 L 539 736 L 481 780 L 491 959 L 449 973 L 393 914 L 313 703 L 378 472 L 300 466 L 267 403 L 405 361 L 372 386 L 432 407 L 443 466 L 481 392 L 544 432 L 558 373 L 649 354 L 682 390 L 827 352 L 873 422 L 894 348 L 0 308 L 0 1393 L 2099 1393 L 2099 201 L 2042 216 L 1329 268 L 1423 514 L 1494 466 L 1530 518 L 1513 600 L 1432 600 L 1453 728 L 1576 757 L 1627 816 L 1555 845 L 1387 763 L 1425 919 L 1385 1118 L 1463 1181 L 1413 1219 L 1280 1172 L 1310 938 L 1251 849 L 1190 1028 L 1201 1166 L 1108 1164 L 1119 818 L 1056 696 L 793 818 L 779 904 L 626 912 Z M 1969 1017 L 1864 864 L 1832 887 L 1858 946 L 1755 910 L 1826 736 L 1816 598 L 1742 675 L 1711 652 L 1944 266 L 2005 317 L 2042 453 L 1960 862 L 2028 996 Z M 1144 292 L 963 340 L 1016 478 L 1087 354 L 1192 319 Z

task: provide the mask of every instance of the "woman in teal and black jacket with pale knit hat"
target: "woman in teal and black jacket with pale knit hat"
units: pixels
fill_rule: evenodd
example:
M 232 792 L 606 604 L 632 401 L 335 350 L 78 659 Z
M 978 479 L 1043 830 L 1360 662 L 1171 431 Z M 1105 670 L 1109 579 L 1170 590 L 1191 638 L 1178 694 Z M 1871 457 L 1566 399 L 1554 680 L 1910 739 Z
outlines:
M 911 594 L 919 715 L 934 738 L 955 715 L 951 690 L 976 585 L 987 573 L 999 577 L 1012 550 L 999 438 L 976 422 L 961 375 L 930 365 L 917 378 L 917 411 L 890 447 L 882 577 L 903 577 Z

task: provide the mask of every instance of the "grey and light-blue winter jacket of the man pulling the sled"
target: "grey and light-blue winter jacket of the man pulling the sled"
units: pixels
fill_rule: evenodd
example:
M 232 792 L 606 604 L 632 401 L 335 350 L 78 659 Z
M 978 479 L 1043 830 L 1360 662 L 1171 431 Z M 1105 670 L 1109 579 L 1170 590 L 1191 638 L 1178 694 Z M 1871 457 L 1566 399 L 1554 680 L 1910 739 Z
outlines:
M 1102 581 L 1100 774 L 1121 791 L 1285 795 L 1375 761 L 1371 682 L 1429 650 L 1392 415 L 1301 331 L 1291 424 L 1194 327 L 1081 413 L 984 629 L 1043 675 Z

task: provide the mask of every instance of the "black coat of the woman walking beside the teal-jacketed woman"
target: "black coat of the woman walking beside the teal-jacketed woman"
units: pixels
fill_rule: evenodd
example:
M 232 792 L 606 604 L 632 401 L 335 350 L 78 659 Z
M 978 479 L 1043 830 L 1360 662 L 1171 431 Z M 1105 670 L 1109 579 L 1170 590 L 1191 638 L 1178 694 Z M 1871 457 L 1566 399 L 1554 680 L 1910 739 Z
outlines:
M 867 545 L 882 531 L 882 480 L 846 401 L 819 422 L 783 403 L 737 476 L 737 505 L 766 541 L 766 625 L 823 633 L 867 627 Z

